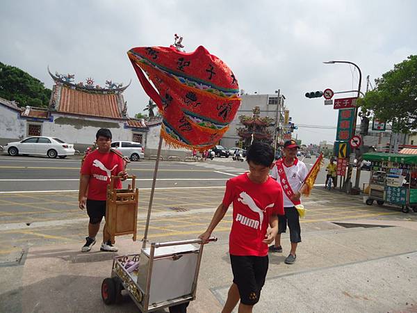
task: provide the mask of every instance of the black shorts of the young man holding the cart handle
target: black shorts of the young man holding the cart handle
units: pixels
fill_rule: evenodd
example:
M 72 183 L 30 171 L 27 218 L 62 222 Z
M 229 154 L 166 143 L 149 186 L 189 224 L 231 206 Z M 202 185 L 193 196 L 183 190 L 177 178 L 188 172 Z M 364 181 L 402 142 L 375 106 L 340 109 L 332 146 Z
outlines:
M 261 289 L 265 284 L 268 255 L 265 257 L 230 255 L 230 263 L 233 282 L 239 289 L 240 303 L 254 305 L 259 301 Z

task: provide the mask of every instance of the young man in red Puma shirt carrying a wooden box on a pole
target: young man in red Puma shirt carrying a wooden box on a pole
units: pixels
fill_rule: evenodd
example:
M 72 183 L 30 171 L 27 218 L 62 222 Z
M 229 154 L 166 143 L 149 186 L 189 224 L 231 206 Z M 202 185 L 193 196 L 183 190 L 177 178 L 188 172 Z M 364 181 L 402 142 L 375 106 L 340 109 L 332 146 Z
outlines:
M 120 176 L 121 180 L 127 178 L 124 170 L 123 159 L 110 151 L 111 131 L 101 128 L 96 134 L 97 150 L 90 152 L 81 167 L 81 182 L 79 191 L 79 207 L 85 209 L 90 217 L 88 223 L 88 237 L 85 237 L 85 245 L 82 252 L 88 252 L 96 243 L 96 235 L 99 232 L 100 223 L 106 217 L 106 193 L 107 185 L 110 184 L 110 177 Z M 122 188 L 122 182 L 117 179 L 115 187 Z M 88 192 L 87 192 L 88 190 Z M 117 251 L 111 244 L 110 234 L 106 231 L 106 224 L 103 227 L 103 243 L 101 251 Z

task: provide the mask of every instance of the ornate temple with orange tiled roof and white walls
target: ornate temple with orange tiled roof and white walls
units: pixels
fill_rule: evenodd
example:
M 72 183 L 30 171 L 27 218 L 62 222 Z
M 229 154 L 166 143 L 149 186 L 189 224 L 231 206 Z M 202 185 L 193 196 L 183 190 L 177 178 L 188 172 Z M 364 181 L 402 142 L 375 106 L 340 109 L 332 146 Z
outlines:
M 27 136 L 54 136 L 83 151 L 95 141 L 101 127 L 111 129 L 114 141 L 146 145 L 149 127 L 160 125 L 129 118 L 123 98 L 129 85 L 106 81 L 106 86 L 101 87 L 91 78 L 74 83 L 73 74 L 52 74 L 49 69 L 48 72 L 54 86 L 47 109 L 20 108 L 0 99 L 0 145 Z

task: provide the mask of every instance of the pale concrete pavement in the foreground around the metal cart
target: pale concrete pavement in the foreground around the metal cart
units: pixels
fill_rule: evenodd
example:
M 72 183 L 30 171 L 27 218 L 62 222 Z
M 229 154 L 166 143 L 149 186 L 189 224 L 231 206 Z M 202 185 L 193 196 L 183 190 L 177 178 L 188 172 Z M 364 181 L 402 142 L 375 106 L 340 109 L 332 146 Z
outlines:
M 284 252 L 270 255 L 254 312 L 416 312 L 416 222 L 352 223 L 367 227 L 304 233 L 293 265 L 284 264 L 289 242 L 283 236 Z M 140 248 L 131 239 L 117 245 L 118 255 Z M 102 302 L 113 254 L 96 246 L 89 253 L 79 252 L 80 244 L 33 248 L 22 265 L 0 267 L 0 312 L 138 312 L 129 296 L 118 305 Z M 188 312 L 220 312 L 232 279 L 227 247 L 226 238 L 205 246 L 197 300 Z

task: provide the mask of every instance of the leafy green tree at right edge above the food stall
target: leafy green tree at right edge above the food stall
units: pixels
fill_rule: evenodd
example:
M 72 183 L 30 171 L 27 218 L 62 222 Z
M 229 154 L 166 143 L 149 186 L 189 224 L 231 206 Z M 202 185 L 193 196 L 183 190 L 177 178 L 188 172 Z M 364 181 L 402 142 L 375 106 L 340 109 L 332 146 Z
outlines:
M 393 131 L 417 131 L 417 56 L 409 56 L 394 69 L 375 79 L 376 88 L 366 93 L 359 105 L 373 110 L 375 117 L 392 122 Z

